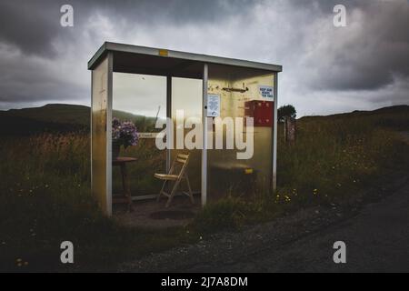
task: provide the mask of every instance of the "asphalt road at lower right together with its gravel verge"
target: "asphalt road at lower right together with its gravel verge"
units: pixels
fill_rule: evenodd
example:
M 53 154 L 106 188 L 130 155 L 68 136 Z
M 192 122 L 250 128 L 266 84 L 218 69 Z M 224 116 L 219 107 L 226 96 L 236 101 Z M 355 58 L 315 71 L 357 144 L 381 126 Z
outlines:
M 127 263 L 134 272 L 409 272 L 409 179 L 383 199 L 345 215 L 342 209 L 302 210 L 240 233 Z M 335 241 L 346 264 L 334 264 Z

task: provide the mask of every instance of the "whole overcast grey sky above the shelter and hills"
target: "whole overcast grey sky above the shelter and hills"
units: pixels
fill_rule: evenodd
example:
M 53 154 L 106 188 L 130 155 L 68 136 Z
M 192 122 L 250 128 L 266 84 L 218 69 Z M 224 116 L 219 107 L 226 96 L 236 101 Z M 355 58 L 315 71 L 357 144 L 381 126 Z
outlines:
M 0 0 L 0 109 L 89 105 L 86 63 L 105 41 L 283 65 L 279 104 L 299 115 L 409 104 L 408 28 L 408 0 Z

